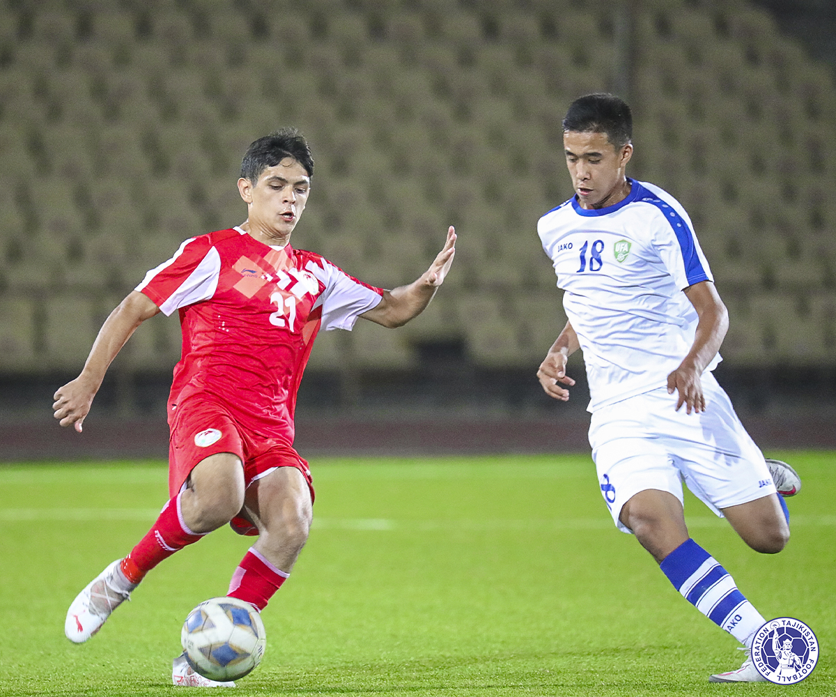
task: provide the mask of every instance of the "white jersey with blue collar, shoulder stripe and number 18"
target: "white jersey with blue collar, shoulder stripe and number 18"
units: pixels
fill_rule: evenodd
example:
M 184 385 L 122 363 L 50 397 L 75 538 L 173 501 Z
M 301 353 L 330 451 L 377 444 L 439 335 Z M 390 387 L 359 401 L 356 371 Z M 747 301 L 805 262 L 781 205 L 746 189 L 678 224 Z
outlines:
M 590 412 L 667 384 L 698 320 L 682 290 L 713 281 L 681 204 L 629 181 L 630 194 L 614 206 L 588 210 L 572 197 L 537 226 L 584 351 Z

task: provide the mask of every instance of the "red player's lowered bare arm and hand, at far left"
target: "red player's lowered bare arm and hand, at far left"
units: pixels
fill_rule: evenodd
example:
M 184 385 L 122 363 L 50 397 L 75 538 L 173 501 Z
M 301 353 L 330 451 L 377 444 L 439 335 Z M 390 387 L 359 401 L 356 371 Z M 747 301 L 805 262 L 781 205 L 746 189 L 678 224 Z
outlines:
M 111 361 L 136 328 L 159 311 L 160 308 L 147 295 L 133 290 L 104 320 L 79 377 L 55 392 L 54 416 L 62 426 L 72 423 L 75 430 L 81 433 L 81 424 L 90 411 L 93 397 L 99 392 Z

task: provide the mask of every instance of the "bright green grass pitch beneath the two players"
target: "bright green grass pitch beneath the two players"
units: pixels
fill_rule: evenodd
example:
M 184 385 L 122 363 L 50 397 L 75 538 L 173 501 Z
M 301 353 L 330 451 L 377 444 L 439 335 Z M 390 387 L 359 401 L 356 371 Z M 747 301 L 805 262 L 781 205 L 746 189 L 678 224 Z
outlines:
M 792 687 L 710 684 L 737 643 L 614 529 L 587 456 L 314 459 L 314 529 L 263 613 L 237 695 L 836 694 L 836 455 L 772 453 L 803 478 L 793 539 L 749 550 L 690 495 L 691 535 L 767 618 L 818 634 Z M 161 695 L 186 613 L 223 595 L 249 538 L 224 528 L 152 571 L 76 646 L 73 597 L 145 534 L 161 463 L 0 467 L 0 694 Z

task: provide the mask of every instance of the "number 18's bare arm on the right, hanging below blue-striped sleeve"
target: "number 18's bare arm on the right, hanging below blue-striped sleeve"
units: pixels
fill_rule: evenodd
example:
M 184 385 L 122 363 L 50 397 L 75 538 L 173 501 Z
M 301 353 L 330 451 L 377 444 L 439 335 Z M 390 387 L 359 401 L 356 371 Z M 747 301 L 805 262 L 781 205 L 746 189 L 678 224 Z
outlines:
M 717 351 L 720 351 L 729 328 L 729 315 L 711 281 L 689 285 L 684 292 L 700 320 L 696 324 L 691 351 L 668 376 L 668 394 L 678 392 L 676 411 L 685 404 L 686 412 L 690 414 L 691 410 L 695 413 L 706 411 L 706 397 L 702 393 L 700 376 Z

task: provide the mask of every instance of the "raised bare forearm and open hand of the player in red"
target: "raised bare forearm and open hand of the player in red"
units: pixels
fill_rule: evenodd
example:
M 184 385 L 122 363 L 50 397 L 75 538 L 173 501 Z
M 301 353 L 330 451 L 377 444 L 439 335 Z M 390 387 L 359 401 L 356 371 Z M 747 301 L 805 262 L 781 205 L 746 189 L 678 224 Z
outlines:
M 385 290 L 383 299 L 360 316 L 390 329 L 405 325 L 413 317 L 420 315 L 430 304 L 433 295 L 436 295 L 436 290 L 444 283 L 455 254 L 456 230 L 451 226 L 447 230 L 444 249 L 441 249 L 430 268 L 421 274 L 419 279 L 409 285 L 400 285 L 394 290 Z

